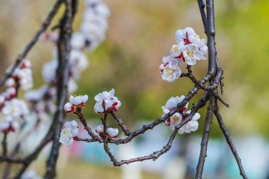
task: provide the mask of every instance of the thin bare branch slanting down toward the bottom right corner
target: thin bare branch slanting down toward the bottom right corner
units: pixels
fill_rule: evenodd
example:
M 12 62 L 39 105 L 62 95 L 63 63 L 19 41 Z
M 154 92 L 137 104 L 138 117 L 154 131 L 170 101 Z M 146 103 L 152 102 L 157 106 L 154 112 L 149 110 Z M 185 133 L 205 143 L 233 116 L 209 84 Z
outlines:
M 225 139 L 226 139 L 226 141 L 227 141 L 227 143 L 228 143 L 228 145 L 229 145 L 229 147 L 230 147 L 230 149 L 231 149 L 231 151 L 232 151 L 232 153 L 233 153 L 233 155 L 235 157 L 235 160 L 236 160 L 237 165 L 239 167 L 240 175 L 243 177 L 243 179 L 248 179 L 247 175 L 244 172 L 243 166 L 241 164 L 241 159 L 240 159 L 240 157 L 239 157 L 239 155 L 238 155 L 238 153 L 237 153 L 237 151 L 235 149 L 235 146 L 234 146 L 234 144 L 232 142 L 232 139 L 230 138 L 230 134 L 228 133 L 228 131 L 227 131 L 227 129 L 226 129 L 224 123 L 223 123 L 219 107 L 216 108 L 215 116 L 217 117 L 217 120 L 218 120 L 218 123 L 220 125 L 220 128 L 221 128 L 221 130 L 222 130 L 222 132 L 223 132 L 223 134 L 225 136 Z

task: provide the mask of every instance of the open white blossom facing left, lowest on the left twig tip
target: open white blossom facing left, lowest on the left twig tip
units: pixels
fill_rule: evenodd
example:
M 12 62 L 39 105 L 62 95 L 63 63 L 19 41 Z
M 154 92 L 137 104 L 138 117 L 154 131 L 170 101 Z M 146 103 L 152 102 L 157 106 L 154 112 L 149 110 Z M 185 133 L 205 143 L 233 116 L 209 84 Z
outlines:
M 73 137 L 78 135 L 78 124 L 75 120 L 68 121 L 64 124 L 64 127 L 61 131 L 61 137 L 59 142 L 66 144 L 66 147 L 70 146 L 73 143 Z

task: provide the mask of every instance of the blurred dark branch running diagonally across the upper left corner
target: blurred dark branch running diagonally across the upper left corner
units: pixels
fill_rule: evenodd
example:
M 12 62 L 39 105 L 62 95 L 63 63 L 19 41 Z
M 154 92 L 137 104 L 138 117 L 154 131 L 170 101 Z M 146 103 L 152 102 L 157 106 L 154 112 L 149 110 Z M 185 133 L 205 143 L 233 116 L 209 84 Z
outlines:
M 49 12 L 46 20 L 43 22 L 40 29 L 37 31 L 37 33 L 34 35 L 32 40 L 28 43 L 28 45 L 25 47 L 23 52 L 17 57 L 16 61 L 13 64 L 13 67 L 10 71 L 6 72 L 4 76 L 0 79 L 0 87 L 3 86 L 5 80 L 11 76 L 15 68 L 19 65 L 19 63 L 23 60 L 24 57 L 28 54 L 28 52 L 31 50 L 31 48 L 34 46 L 34 44 L 37 42 L 40 34 L 42 34 L 44 31 L 46 31 L 47 27 L 49 26 L 52 18 L 54 17 L 55 13 L 57 12 L 58 8 L 60 7 L 62 3 L 62 0 L 57 0 L 57 2 L 54 4 L 52 10 Z

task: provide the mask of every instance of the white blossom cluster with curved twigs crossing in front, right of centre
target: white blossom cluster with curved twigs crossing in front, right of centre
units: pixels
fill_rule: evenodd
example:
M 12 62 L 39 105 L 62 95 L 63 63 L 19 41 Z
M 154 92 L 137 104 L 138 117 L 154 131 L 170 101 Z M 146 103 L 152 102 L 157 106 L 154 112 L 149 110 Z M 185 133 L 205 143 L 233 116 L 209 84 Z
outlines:
M 162 106 L 162 110 L 163 110 L 163 115 L 167 114 L 168 112 L 170 112 L 171 110 L 173 110 L 174 108 L 176 108 L 177 103 L 181 102 L 183 99 L 185 98 L 184 95 L 176 96 L 176 97 L 171 97 L 170 99 L 168 99 L 168 101 L 166 102 L 165 106 Z M 168 119 L 165 120 L 164 125 L 166 127 L 170 127 L 171 130 L 175 130 L 175 126 L 177 126 L 178 124 L 180 124 L 186 116 L 186 114 L 188 115 L 191 110 L 188 110 L 186 112 L 184 112 L 184 110 L 186 110 L 188 108 L 188 103 L 183 106 L 179 112 L 176 112 L 174 115 L 172 115 L 171 117 L 169 117 Z M 185 115 L 184 115 L 185 114 Z M 178 133 L 179 134 L 183 134 L 183 133 L 190 133 L 191 131 L 196 131 L 198 129 L 198 122 L 197 120 L 200 118 L 200 114 L 199 113 L 195 113 L 194 116 L 192 117 L 192 119 L 190 121 L 188 121 L 186 124 L 184 124 L 179 130 Z

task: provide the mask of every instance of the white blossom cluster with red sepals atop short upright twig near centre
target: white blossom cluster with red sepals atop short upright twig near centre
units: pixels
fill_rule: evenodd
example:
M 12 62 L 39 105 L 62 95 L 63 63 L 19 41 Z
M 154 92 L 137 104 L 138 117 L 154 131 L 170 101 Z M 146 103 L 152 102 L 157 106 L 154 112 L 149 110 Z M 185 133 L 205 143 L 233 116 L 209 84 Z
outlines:
M 102 91 L 97 94 L 94 99 L 96 103 L 94 105 L 94 111 L 96 113 L 104 113 L 106 110 L 114 110 L 117 111 L 119 107 L 122 105 L 121 101 L 118 100 L 118 97 L 114 96 L 115 90 L 111 89 L 109 92 Z M 105 105 L 105 111 L 104 107 Z

